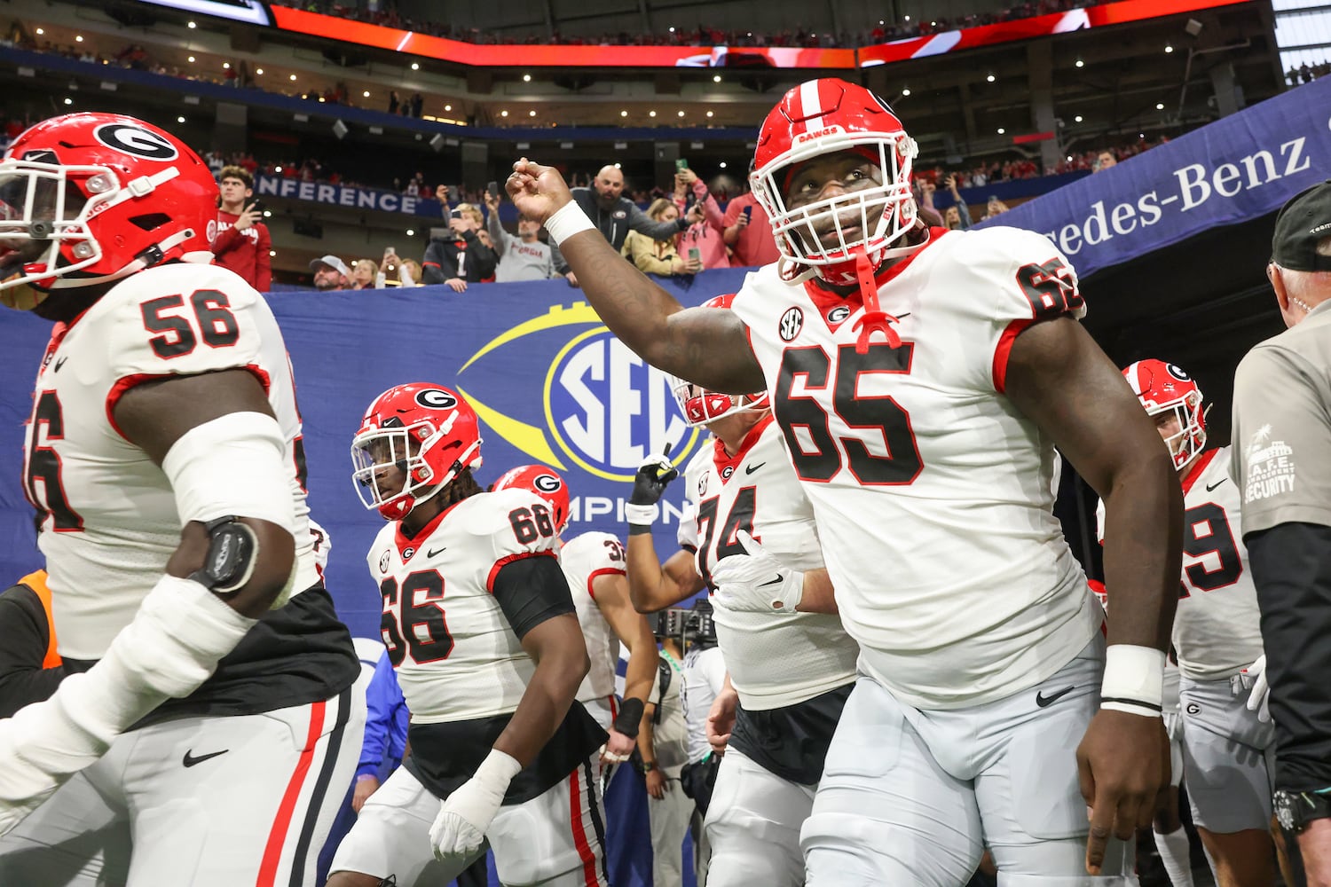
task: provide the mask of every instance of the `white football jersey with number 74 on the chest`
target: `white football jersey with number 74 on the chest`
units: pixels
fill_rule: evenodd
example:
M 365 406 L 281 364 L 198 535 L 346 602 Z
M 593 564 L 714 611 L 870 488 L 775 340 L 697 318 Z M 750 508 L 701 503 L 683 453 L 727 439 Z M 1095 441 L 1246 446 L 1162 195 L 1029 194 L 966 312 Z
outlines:
M 708 584 L 717 560 L 744 553 L 740 529 L 795 569 L 823 567 L 813 508 L 771 416 L 749 431 L 733 457 L 720 440 L 704 447 L 684 477 L 695 520 L 692 535 L 681 541 L 695 549 L 697 572 Z M 860 649 L 836 616 L 736 613 L 715 600 L 713 608 L 731 684 L 749 711 L 795 705 L 855 680 Z

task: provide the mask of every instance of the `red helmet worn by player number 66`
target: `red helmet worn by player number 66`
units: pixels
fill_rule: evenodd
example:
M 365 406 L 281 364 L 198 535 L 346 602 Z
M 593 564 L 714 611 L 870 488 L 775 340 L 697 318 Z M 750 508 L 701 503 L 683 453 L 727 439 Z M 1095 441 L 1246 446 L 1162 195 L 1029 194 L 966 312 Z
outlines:
M 462 395 L 429 382 L 389 388 L 370 404 L 351 440 L 351 477 L 366 508 L 402 520 L 463 468 L 480 464 L 480 424 Z M 401 489 L 381 489 L 383 472 L 405 475 Z

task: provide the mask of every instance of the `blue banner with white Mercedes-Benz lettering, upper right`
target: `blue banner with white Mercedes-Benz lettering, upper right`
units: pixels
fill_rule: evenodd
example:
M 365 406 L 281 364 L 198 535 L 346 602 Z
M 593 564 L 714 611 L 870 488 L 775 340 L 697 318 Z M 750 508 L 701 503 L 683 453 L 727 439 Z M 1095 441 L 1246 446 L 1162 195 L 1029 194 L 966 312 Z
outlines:
M 1264 215 L 1327 178 L 1328 117 L 1331 77 L 1268 98 L 981 225 L 1040 231 L 1087 277 L 1203 230 Z

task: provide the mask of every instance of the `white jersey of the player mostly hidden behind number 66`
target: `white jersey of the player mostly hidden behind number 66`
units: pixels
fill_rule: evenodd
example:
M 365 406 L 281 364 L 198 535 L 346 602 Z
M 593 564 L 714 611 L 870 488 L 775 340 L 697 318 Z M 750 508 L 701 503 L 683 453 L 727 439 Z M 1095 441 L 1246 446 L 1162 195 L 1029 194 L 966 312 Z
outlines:
M 578 624 L 587 641 L 591 670 L 578 688 L 578 701 L 591 702 L 615 696 L 615 662 L 619 660 L 619 636 L 602 616 L 591 584 L 599 576 L 624 576 L 624 545 L 610 533 L 583 533 L 559 549 L 559 565 L 568 577 L 568 590 L 578 608 Z

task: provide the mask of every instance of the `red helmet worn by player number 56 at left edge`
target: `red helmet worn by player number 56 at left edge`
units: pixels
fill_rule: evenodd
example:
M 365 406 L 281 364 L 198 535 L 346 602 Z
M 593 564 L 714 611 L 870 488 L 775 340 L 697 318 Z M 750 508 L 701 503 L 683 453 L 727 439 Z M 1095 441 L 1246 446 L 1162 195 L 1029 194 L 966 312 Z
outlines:
M 208 263 L 216 233 L 208 164 L 133 117 L 52 117 L 0 162 L 0 290 L 106 283 L 172 259 Z

